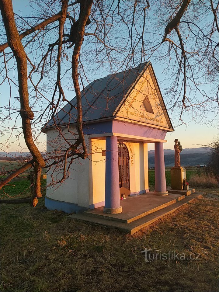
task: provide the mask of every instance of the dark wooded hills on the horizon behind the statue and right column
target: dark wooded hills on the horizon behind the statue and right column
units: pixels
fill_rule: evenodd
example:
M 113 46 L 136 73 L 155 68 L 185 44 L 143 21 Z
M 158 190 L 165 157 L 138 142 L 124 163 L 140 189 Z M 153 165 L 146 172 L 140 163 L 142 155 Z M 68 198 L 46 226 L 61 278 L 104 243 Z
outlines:
M 175 151 L 164 149 L 165 166 L 174 166 Z M 148 151 L 148 166 L 154 167 L 154 150 Z M 209 161 L 210 148 L 185 148 L 180 153 L 180 162 L 183 166 L 207 165 Z

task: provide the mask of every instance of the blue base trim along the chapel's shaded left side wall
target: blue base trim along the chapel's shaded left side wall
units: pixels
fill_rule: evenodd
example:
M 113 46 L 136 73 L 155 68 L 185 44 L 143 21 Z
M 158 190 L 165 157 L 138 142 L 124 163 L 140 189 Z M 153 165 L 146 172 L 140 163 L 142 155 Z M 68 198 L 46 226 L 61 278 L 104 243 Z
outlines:
M 88 208 L 78 206 L 77 204 L 53 200 L 48 198 L 47 196 L 45 196 L 45 206 L 49 210 L 63 211 L 68 214 L 84 212 L 88 210 Z

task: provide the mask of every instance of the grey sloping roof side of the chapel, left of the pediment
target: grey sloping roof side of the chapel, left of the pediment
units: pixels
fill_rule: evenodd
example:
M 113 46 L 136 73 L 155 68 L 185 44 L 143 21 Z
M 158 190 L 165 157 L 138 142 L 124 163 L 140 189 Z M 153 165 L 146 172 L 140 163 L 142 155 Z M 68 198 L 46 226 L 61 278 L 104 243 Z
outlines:
M 139 64 L 136 68 L 131 68 L 123 72 L 94 80 L 84 90 L 82 94 L 82 115 L 83 121 L 95 121 L 113 116 L 117 106 L 133 87 L 139 74 L 145 69 L 147 63 Z M 76 98 L 71 100 L 73 106 L 77 107 Z M 58 124 L 76 123 L 77 110 L 67 104 L 55 116 Z M 70 115 L 69 115 L 70 111 Z M 52 127 L 54 121 L 51 119 L 46 128 Z

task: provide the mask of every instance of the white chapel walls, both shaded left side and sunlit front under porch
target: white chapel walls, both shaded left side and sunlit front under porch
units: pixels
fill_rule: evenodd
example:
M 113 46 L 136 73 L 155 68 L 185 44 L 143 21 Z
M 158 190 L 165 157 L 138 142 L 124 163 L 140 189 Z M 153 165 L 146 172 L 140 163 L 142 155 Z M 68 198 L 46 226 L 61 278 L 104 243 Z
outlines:
M 64 137 L 73 142 L 73 135 L 64 131 Z M 75 138 L 75 137 L 74 137 Z M 54 200 L 68 203 L 75 203 L 78 206 L 89 208 L 105 200 L 105 169 L 106 156 L 103 151 L 106 149 L 106 140 L 88 139 L 88 158 L 75 159 L 70 167 L 69 178 L 61 184 L 51 185 L 51 175 L 54 180 L 61 179 L 61 169 L 53 166 L 47 172 L 47 196 Z M 131 194 L 139 194 L 140 191 L 148 189 L 148 145 L 123 141 L 126 144 L 130 155 L 130 191 Z M 68 148 L 68 144 L 60 137 L 57 130 L 47 132 L 47 152 L 51 155 L 58 154 Z M 54 170 L 55 169 L 55 170 Z

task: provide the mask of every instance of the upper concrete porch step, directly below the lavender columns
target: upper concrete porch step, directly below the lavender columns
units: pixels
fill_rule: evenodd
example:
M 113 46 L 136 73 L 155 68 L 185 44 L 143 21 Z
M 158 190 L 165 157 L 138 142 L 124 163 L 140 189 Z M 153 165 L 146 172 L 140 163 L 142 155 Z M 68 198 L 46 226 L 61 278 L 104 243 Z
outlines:
M 133 222 L 135 220 L 138 220 L 142 217 L 145 217 L 145 216 L 148 216 L 149 214 L 151 213 L 154 213 L 158 210 L 161 210 L 163 208 L 166 208 L 172 204 L 175 204 L 176 202 L 178 201 L 181 201 L 185 198 L 185 195 L 182 195 L 182 196 L 179 196 L 173 200 L 170 200 L 169 202 L 166 202 L 160 206 L 157 206 L 155 208 L 152 208 L 151 210 L 147 210 L 145 212 L 142 212 L 141 214 L 138 214 L 138 215 L 130 215 L 130 218 L 127 219 L 127 218 L 123 218 L 123 215 L 120 213 L 120 214 L 104 214 L 103 213 L 103 207 L 100 207 L 98 209 L 100 209 L 100 212 L 99 213 L 95 213 L 95 210 L 88 210 L 88 211 L 85 211 L 84 214 L 86 216 L 90 216 L 90 217 L 97 217 L 97 218 L 102 218 L 102 219 L 107 219 L 107 220 L 113 220 L 113 221 L 118 221 L 118 222 L 123 222 L 123 223 L 130 223 L 130 222 Z

